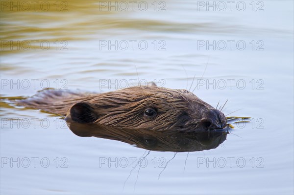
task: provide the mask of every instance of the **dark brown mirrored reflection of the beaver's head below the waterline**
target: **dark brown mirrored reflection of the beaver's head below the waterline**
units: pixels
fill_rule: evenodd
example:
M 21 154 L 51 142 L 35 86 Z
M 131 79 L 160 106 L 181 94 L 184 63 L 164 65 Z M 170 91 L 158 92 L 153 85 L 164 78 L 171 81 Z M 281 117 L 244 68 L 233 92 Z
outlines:
M 226 140 L 227 128 L 205 132 L 185 132 L 177 130 L 144 130 L 116 128 L 92 123 L 67 125 L 80 137 L 98 137 L 122 141 L 138 148 L 151 151 L 194 152 L 217 148 Z

